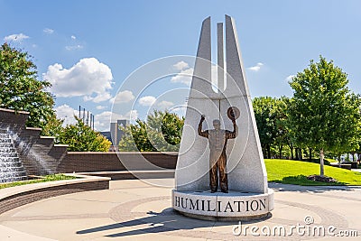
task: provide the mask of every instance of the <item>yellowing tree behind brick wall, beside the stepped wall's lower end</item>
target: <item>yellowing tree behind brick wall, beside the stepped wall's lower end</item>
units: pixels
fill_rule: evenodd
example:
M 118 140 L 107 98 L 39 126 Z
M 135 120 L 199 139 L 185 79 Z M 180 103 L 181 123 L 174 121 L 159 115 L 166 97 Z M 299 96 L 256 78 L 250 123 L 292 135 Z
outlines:
M 84 122 L 74 116 L 77 120 L 75 125 L 67 125 L 60 132 L 58 143 L 69 144 L 70 152 L 108 152 L 111 142 L 102 134 L 85 125 Z

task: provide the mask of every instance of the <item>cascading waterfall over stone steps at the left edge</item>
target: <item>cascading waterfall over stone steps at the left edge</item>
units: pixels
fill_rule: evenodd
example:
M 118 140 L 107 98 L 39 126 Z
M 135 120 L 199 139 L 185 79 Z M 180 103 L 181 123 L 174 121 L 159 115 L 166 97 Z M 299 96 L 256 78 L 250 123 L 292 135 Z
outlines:
M 27 180 L 14 143 L 6 130 L 0 129 L 0 182 Z

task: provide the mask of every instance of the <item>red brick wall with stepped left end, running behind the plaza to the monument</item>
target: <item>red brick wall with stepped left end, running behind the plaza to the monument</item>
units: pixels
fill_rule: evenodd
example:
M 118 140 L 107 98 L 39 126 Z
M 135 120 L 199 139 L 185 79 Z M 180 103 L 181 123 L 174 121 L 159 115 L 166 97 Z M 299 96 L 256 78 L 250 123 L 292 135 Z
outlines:
M 41 137 L 41 129 L 26 128 L 28 115 L 0 108 L 0 128 L 11 131 L 14 138 L 17 136 L 14 145 L 28 175 L 175 169 L 177 153 L 67 153 L 66 146 L 55 145 L 53 138 Z

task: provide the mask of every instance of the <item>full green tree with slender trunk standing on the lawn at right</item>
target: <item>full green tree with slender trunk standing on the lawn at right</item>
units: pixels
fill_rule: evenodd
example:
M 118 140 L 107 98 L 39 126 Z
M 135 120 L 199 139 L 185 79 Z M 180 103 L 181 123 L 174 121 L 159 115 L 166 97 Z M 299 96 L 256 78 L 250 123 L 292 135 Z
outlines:
M 360 98 L 347 83 L 347 74 L 321 56 L 290 81 L 290 126 L 297 144 L 319 150 L 321 176 L 324 153 L 346 150 L 356 138 Z

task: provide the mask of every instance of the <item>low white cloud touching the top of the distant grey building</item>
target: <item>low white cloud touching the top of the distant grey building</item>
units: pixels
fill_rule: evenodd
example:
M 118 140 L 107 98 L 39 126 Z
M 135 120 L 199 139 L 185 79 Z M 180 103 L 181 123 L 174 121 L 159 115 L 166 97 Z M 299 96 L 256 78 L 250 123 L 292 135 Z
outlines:
M 105 111 L 94 116 L 94 127 L 97 131 L 109 131 L 110 122 L 116 122 L 116 120 L 120 119 L 135 120 L 137 117 L 138 111 L 135 109 L 125 113 L 125 115 Z

